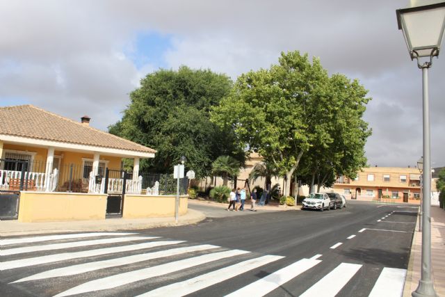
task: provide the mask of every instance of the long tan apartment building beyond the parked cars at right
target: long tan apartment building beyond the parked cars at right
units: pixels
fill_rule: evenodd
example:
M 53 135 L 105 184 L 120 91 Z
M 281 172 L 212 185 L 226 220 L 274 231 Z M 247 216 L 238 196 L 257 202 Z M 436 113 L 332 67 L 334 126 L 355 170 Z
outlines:
M 393 202 L 420 203 L 420 172 L 418 168 L 362 168 L 355 179 L 339 177 L 333 190 L 346 198 L 357 200 L 391 199 Z

